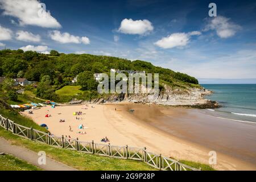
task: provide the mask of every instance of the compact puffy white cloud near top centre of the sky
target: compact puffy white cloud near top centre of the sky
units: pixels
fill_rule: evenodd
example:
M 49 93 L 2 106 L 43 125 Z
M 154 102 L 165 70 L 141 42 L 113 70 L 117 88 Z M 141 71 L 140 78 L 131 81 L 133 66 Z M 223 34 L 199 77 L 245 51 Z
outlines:
M 154 30 L 154 27 L 152 26 L 152 23 L 147 19 L 144 19 L 144 20 L 123 19 L 118 29 L 118 31 L 122 32 L 123 34 L 139 34 L 139 35 L 145 35 L 152 30 Z

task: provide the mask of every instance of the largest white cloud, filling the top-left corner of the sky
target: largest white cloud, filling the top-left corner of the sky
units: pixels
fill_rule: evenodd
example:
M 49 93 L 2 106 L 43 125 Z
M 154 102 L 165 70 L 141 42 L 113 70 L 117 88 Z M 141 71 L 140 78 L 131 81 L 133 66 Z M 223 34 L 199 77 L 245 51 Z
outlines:
M 3 15 L 14 16 L 19 19 L 20 25 L 32 25 L 46 28 L 60 28 L 61 25 L 49 11 L 40 11 L 40 2 L 37 0 L 0 0 Z M 42 13 L 43 12 L 43 13 Z

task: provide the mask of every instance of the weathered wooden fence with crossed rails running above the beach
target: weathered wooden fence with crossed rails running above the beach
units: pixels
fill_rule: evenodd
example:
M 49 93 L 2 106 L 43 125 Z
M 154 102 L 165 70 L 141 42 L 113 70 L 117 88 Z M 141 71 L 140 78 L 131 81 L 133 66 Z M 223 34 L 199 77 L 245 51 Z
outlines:
M 68 148 L 86 154 L 108 156 L 110 158 L 139 160 L 162 171 L 201 170 L 182 164 L 177 160 L 164 157 L 161 154 L 159 155 L 149 152 L 146 150 L 146 147 L 112 146 L 110 144 L 94 143 L 93 141 L 81 142 L 78 138 L 65 138 L 63 135 L 62 137 L 55 137 L 48 133 L 35 130 L 32 127 L 19 125 L 8 118 L 2 117 L 2 115 L 0 115 L 0 126 L 19 137 L 45 143 L 49 146 Z

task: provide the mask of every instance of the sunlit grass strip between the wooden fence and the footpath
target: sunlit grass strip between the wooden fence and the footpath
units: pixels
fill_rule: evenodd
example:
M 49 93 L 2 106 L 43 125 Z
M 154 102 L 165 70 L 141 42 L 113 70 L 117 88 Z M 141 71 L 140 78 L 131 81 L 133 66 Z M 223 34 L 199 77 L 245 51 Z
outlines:
M 151 171 L 156 170 L 148 166 L 143 162 L 138 162 L 135 160 L 121 160 L 108 158 L 104 156 L 84 154 L 82 152 L 56 148 L 47 146 L 43 143 L 33 142 L 28 139 L 18 137 L 14 134 L 11 134 L 9 131 L 6 131 L 2 127 L 0 128 L 0 136 L 9 140 L 11 144 L 16 146 L 22 146 L 28 148 L 29 150 L 39 152 L 45 151 L 46 155 L 49 158 L 55 159 L 59 162 L 67 164 L 73 168 L 79 170 L 89 170 L 89 171 L 134 171 L 134 170 L 144 170 Z

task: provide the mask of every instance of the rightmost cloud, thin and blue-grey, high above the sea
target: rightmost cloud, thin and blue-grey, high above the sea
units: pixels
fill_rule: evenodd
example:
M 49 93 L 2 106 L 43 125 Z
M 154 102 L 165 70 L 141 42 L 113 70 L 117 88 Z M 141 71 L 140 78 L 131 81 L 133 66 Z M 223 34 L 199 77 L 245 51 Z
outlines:
M 229 38 L 234 36 L 241 26 L 230 22 L 229 18 L 217 16 L 209 21 L 204 31 L 215 30 L 220 38 Z

